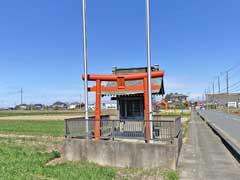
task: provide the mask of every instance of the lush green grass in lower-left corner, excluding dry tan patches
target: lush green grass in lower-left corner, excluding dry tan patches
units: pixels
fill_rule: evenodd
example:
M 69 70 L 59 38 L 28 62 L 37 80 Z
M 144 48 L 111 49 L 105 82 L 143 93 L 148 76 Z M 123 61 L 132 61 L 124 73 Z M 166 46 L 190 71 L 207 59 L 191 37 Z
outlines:
M 59 153 L 37 151 L 31 147 L 8 144 L 0 140 L 0 179 L 77 179 L 110 180 L 114 179 L 116 170 L 87 162 L 66 162 L 54 166 L 46 163 L 59 157 Z

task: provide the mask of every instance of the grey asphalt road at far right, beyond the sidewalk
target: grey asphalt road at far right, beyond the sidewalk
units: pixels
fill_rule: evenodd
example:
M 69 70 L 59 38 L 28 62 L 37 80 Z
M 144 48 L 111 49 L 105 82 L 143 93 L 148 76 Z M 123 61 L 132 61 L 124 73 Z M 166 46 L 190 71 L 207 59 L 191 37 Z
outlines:
M 240 150 L 240 116 L 207 110 L 199 113 L 229 138 L 238 147 L 238 151 Z

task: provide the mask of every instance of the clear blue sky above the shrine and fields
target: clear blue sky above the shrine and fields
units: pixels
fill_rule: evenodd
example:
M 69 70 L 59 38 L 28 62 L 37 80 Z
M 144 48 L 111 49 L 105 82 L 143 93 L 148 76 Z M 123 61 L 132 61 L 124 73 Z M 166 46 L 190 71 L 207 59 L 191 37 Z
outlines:
M 166 92 L 201 96 L 240 61 L 239 0 L 151 0 Z M 146 65 L 145 0 L 87 0 L 89 73 Z M 81 0 L 0 2 L 0 106 L 83 98 Z M 90 98 L 93 101 L 92 98 Z

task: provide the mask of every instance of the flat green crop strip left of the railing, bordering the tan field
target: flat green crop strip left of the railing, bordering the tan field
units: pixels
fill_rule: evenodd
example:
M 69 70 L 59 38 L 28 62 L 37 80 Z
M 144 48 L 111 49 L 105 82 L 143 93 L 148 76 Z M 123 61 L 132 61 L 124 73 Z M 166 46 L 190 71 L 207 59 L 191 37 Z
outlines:
M 2 120 L 0 121 L 0 133 L 40 136 L 64 136 L 64 122 Z

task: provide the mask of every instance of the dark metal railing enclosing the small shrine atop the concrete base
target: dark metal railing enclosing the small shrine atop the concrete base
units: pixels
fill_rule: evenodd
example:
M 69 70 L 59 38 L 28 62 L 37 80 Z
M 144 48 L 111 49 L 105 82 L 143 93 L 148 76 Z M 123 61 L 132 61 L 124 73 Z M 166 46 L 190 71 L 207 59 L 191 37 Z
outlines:
M 95 119 L 88 120 L 89 131 L 86 133 L 86 120 L 84 118 L 65 120 L 65 137 L 94 138 Z M 181 117 L 161 118 L 153 120 L 153 140 L 173 140 L 181 131 Z M 100 120 L 101 139 L 146 139 L 145 120 L 119 119 Z

